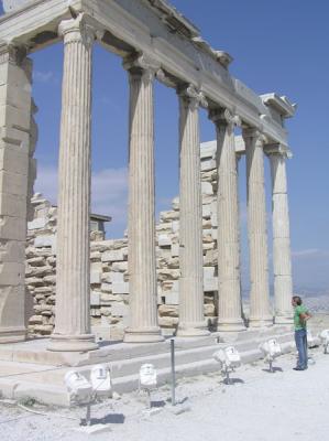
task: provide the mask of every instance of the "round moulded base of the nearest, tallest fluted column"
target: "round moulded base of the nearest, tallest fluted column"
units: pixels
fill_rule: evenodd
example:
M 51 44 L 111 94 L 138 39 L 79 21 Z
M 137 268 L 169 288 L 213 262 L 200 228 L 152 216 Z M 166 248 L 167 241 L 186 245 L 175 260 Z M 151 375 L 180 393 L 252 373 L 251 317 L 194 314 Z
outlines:
M 62 335 L 52 334 L 47 351 L 54 352 L 89 352 L 98 349 L 92 334 Z

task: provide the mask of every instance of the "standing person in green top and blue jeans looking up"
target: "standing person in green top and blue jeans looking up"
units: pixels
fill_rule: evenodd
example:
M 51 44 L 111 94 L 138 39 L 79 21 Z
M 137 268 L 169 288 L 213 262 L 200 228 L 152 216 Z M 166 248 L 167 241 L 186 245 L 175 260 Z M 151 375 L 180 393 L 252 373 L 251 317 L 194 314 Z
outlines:
M 295 325 L 295 342 L 298 351 L 298 363 L 294 367 L 295 370 L 307 369 L 307 320 L 311 316 L 304 306 L 299 295 L 294 295 L 292 299 L 292 305 L 294 306 L 294 325 Z

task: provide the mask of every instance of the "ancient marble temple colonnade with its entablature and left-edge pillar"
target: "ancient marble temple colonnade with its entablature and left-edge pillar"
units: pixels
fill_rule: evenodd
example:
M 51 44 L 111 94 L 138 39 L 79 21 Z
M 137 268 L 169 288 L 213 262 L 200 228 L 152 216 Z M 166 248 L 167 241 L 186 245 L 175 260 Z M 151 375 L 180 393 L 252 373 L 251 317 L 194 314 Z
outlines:
M 129 323 L 125 343 L 164 336 L 157 314 L 153 87 L 177 94 L 179 108 L 180 337 L 209 334 L 204 309 L 199 109 L 217 130 L 219 332 L 244 332 L 240 281 L 239 158 L 246 157 L 250 327 L 290 323 L 292 269 L 284 120 L 286 97 L 257 96 L 229 73 L 231 56 L 212 49 L 165 0 L 3 1 L 0 18 L 0 342 L 20 342 L 25 324 L 25 239 L 36 166 L 32 62 L 29 54 L 64 45 L 56 241 L 56 316 L 47 349 L 88 352 L 90 329 L 90 121 L 92 47 L 122 57 L 130 85 Z M 237 141 L 234 128 L 242 137 Z M 270 310 L 264 158 L 271 161 L 274 318 Z M 120 279 L 121 280 L 121 279 Z M 123 282 L 123 280 L 122 280 Z M 274 321 L 273 321 L 274 319 Z

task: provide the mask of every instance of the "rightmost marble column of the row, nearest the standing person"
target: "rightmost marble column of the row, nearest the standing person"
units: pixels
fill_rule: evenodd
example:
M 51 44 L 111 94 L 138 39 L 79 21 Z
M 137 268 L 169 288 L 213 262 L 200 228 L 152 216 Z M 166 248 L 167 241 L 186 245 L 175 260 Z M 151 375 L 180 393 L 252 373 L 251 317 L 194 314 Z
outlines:
M 293 322 L 292 258 L 289 211 L 287 196 L 286 159 L 288 149 L 278 144 L 266 147 L 272 175 L 274 321 L 276 324 Z

